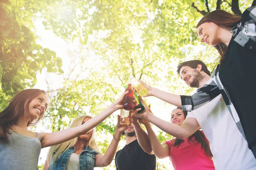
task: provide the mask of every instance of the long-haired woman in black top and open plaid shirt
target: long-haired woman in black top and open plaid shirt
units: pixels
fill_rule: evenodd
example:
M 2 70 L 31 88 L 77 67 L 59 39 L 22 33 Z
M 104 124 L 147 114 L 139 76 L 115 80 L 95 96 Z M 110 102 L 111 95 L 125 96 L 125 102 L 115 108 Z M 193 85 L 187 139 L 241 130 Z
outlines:
M 253 71 L 256 7 L 247 8 L 241 17 L 223 10 L 212 11 L 196 28 L 201 42 L 212 45 L 221 55 L 220 64 L 212 74 L 212 83 L 220 89 L 237 127 L 256 157 L 256 114 L 252 111 L 256 96 Z

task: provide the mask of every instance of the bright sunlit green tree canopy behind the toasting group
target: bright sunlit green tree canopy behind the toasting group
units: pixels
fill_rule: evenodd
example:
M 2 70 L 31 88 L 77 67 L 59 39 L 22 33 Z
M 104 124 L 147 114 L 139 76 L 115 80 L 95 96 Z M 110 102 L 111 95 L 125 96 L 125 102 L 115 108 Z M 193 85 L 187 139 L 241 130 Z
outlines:
M 49 122 L 44 125 L 52 131 L 67 128 L 70 120 L 77 116 L 94 116 L 103 111 L 119 98 L 131 74 L 164 91 L 192 94 L 193 89 L 178 77 L 177 64 L 201 59 L 212 71 L 219 58 L 215 48 L 198 43 L 195 26 L 202 17 L 198 11 L 207 11 L 205 2 L 2 0 L 0 108 L 18 91 L 32 88 L 37 82 L 36 73 L 43 68 L 64 77 L 61 88 L 52 89 L 49 85 L 51 103 L 45 114 Z M 240 0 L 240 10 L 244 11 L 252 2 Z M 220 6 L 232 12 L 231 4 L 232 1 L 227 0 Z M 208 1 L 210 11 L 216 6 L 217 0 Z M 67 42 L 79 40 L 79 50 L 68 54 L 72 60 L 70 70 L 64 72 L 62 59 L 36 43 L 34 21 L 39 19 L 43 20 L 46 30 L 52 30 Z M 168 112 L 169 104 L 163 105 Z M 158 106 L 154 107 L 153 112 L 157 112 Z M 96 127 L 97 136 L 111 137 L 115 125 L 113 114 Z M 160 142 L 171 138 L 156 131 Z M 103 153 L 110 143 L 106 138 L 98 142 Z M 158 163 L 157 168 L 166 169 L 166 166 Z

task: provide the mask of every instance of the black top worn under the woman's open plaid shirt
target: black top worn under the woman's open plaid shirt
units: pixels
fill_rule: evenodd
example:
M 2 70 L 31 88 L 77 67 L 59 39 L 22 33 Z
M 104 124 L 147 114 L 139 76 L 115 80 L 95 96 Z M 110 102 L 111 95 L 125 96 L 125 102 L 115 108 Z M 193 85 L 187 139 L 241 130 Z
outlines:
M 241 25 L 246 32 L 249 11 L 242 16 Z M 245 37 L 240 36 L 240 34 Z M 246 33 L 245 33 L 246 34 Z M 256 35 L 254 31 L 254 35 Z M 247 39 L 241 29 L 233 35 L 227 53 L 219 68 L 219 77 L 227 89 L 231 102 L 244 129 L 249 148 L 256 144 L 256 43 Z

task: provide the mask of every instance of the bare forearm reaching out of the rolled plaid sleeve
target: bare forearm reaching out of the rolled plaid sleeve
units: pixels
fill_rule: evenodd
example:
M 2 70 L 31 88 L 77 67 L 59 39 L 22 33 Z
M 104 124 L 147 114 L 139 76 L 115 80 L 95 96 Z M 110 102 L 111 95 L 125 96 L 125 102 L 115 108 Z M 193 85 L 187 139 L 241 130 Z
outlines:
M 139 81 L 145 86 L 145 88 L 148 89 L 148 94 L 146 96 L 155 96 L 158 99 L 161 99 L 167 103 L 170 103 L 172 105 L 175 105 L 175 106 L 181 108 L 180 95 L 167 93 L 167 92 L 161 91 L 157 88 L 152 88 L 150 85 L 147 85 L 145 82 L 143 82 L 141 80 L 139 80 Z

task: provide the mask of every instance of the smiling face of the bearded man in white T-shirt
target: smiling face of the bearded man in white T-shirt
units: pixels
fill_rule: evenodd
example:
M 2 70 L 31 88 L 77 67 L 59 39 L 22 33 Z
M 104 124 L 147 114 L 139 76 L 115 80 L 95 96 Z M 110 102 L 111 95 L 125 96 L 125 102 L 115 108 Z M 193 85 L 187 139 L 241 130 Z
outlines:
M 199 68 L 191 68 L 189 66 L 183 66 L 180 68 L 180 77 L 187 85 L 192 88 L 198 88 L 200 82 L 204 79 L 204 76 L 200 73 Z

